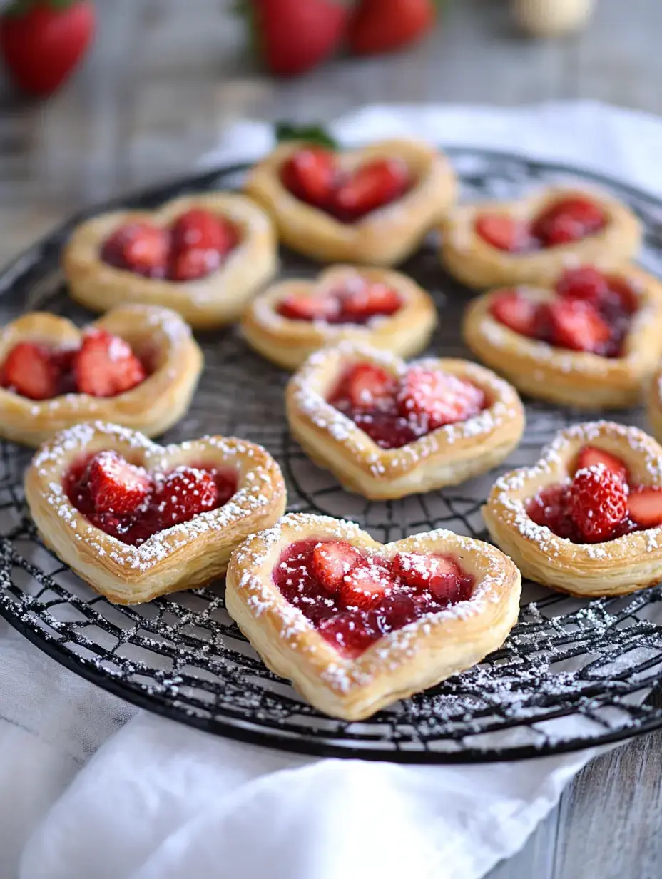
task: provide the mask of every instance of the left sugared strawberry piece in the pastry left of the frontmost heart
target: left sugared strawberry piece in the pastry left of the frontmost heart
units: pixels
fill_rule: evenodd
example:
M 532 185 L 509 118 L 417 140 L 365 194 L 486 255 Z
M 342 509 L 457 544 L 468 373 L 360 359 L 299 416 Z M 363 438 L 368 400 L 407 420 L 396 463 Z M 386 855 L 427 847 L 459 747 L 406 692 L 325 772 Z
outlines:
M 96 512 L 126 515 L 134 512 L 149 496 L 151 482 L 140 467 L 125 461 L 117 452 L 99 452 L 91 459 L 85 477 Z

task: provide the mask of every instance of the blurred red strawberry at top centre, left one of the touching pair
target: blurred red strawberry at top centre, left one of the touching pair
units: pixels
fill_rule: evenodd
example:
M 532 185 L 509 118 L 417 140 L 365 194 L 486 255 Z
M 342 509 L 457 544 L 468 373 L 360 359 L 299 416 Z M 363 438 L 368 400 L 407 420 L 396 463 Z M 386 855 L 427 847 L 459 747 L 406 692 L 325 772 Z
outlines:
M 266 67 L 296 76 L 323 62 L 345 33 L 345 0 L 252 0 L 246 6 Z

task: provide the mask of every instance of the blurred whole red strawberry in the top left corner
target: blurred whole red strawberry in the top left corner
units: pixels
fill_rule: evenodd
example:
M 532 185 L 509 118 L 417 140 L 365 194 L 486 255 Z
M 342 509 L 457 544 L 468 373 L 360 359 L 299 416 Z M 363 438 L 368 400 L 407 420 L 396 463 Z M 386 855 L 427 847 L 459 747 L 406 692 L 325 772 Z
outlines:
M 0 16 L 0 53 L 19 88 L 49 95 L 83 59 L 94 25 L 89 0 L 16 0 Z

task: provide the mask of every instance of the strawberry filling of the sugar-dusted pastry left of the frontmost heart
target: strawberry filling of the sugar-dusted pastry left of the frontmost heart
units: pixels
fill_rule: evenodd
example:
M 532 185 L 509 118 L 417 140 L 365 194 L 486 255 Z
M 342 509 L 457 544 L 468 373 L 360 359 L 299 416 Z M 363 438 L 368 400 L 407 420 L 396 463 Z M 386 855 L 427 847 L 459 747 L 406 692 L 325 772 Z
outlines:
M 123 543 L 140 546 L 152 534 L 227 504 L 236 473 L 205 463 L 148 473 L 113 451 L 78 461 L 64 477 L 76 510 Z

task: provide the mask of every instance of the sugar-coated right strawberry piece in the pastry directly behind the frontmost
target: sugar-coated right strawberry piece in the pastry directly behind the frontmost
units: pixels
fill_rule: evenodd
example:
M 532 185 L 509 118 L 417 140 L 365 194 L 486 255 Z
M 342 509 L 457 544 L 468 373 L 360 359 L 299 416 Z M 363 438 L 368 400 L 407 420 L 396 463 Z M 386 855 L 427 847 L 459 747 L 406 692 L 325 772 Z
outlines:
M 416 418 L 430 431 L 466 421 L 484 406 L 484 392 L 475 384 L 423 367 L 411 367 L 398 394 L 400 414 Z

